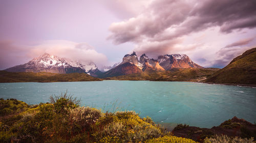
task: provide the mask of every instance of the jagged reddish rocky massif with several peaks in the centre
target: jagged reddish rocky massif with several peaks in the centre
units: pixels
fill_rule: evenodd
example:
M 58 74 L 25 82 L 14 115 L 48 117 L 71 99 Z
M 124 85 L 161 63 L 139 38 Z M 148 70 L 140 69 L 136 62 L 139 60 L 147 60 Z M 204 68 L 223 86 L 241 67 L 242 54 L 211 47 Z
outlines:
M 129 64 L 127 64 L 129 63 Z M 142 54 L 138 60 L 135 52 L 126 54 L 123 61 L 115 68 L 105 72 L 103 77 L 113 77 L 125 74 L 141 73 L 144 71 L 165 71 L 184 68 L 203 68 L 189 59 L 185 54 L 165 54 L 157 60 Z M 127 71 L 126 71 L 127 70 Z

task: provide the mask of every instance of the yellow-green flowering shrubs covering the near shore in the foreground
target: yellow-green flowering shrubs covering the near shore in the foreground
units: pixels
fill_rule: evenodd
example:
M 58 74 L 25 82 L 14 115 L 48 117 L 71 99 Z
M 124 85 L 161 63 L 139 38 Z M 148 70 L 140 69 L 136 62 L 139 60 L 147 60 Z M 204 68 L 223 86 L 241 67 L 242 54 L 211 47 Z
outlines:
M 174 136 L 150 117 L 142 119 L 134 111 L 103 112 L 79 106 L 79 101 L 67 93 L 51 96 L 50 103 L 38 105 L 1 99 L 0 142 L 196 142 Z M 235 125 L 228 121 L 221 126 Z M 174 131 L 187 128 L 188 125 L 180 124 Z M 198 141 L 253 142 L 250 137 L 205 137 Z

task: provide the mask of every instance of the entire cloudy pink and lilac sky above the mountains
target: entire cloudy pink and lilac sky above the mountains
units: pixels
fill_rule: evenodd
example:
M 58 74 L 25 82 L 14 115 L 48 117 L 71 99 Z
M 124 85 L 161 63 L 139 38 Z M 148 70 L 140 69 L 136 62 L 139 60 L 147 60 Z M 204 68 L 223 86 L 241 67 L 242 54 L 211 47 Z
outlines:
M 99 68 L 183 53 L 223 68 L 256 47 L 255 0 L 0 0 L 0 70 L 50 53 Z

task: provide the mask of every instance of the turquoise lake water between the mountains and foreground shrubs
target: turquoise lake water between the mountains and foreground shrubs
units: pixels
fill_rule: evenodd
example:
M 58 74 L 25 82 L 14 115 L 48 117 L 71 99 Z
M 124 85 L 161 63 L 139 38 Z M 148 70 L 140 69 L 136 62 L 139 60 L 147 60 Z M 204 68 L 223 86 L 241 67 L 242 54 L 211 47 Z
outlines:
M 0 98 L 38 104 L 66 90 L 81 98 L 81 105 L 104 111 L 114 107 L 135 110 L 140 117 L 150 116 L 158 123 L 210 128 L 234 116 L 256 122 L 256 89 L 233 85 L 114 80 L 0 83 Z

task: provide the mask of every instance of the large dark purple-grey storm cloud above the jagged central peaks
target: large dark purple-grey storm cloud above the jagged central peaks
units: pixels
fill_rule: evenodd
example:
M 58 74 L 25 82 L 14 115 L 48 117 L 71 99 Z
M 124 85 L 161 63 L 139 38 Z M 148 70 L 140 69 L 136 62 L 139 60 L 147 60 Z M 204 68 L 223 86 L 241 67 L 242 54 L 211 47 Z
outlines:
M 202 51 L 202 48 L 210 47 L 205 44 L 218 45 L 219 47 L 215 48 L 220 50 L 221 47 L 224 47 L 223 45 L 214 45 L 212 41 L 205 43 L 208 41 L 205 37 L 218 39 L 218 37 L 232 36 L 233 33 L 239 37 L 241 35 L 239 32 L 245 28 L 253 28 L 255 32 L 255 6 L 256 1 L 254 0 L 158 0 L 152 2 L 136 17 L 112 23 L 109 28 L 112 34 L 108 39 L 112 40 L 114 44 L 135 43 L 137 45 L 134 48 L 135 51 L 155 56 L 174 52 Z M 216 37 L 212 37 L 213 34 L 208 33 L 203 36 L 205 41 L 200 41 L 199 38 L 199 40 L 191 40 L 199 37 L 198 33 L 211 29 L 215 30 L 211 33 L 215 33 Z M 216 30 L 218 30 L 218 35 Z M 195 37 L 191 37 L 191 35 Z M 190 43 L 186 41 L 190 41 Z M 219 39 L 218 42 L 227 45 L 226 42 L 229 41 L 223 42 Z M 242 41 L 240 45 L 246 45 L 249 42 L 250 40 L 247 43 Z

